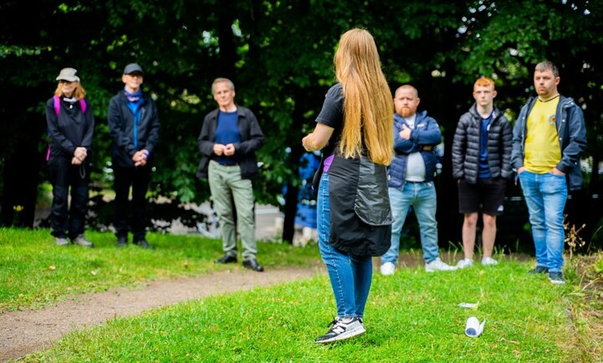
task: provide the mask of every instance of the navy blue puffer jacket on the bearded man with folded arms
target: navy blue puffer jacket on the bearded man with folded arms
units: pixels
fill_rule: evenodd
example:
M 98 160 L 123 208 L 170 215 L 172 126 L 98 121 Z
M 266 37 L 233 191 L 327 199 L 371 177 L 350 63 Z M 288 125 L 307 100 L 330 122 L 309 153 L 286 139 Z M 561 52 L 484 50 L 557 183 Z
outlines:
M 431 182 L 436 174 L 437 154 L 434 151 L 436 145 L 442 142 L 442 131 L 434 118 L 427 116 L 423 111 L 417 114 L 414 121 L 414 130 L 410 132 L 410 140 L 400 137 L 402 125 L 407 125 L 406 121 L 399 114 L 394 114 L 394 151 L 396 155 L 392 163 L 387 168 L 389 181 L 387 185 L 392 188 L 402 188 L 406 179 L 406 163 L 408 154 L 421 152 L 425 162 L 425 181 Z M 430 146 L 430 150 L 423 150 Z

